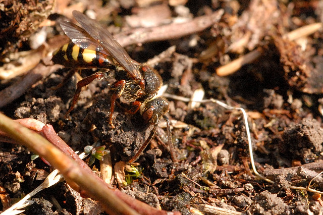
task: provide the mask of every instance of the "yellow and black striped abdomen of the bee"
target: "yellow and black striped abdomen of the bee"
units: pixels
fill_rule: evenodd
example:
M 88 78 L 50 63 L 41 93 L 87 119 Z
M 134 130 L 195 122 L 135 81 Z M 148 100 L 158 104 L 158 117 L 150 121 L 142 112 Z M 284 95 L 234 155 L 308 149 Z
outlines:
M 51 61 L 65 67 L 79 68 L 115 68 L 114 59 L 101 52 L 83 49 L 73 42 L 66 43 L 52 53 Z

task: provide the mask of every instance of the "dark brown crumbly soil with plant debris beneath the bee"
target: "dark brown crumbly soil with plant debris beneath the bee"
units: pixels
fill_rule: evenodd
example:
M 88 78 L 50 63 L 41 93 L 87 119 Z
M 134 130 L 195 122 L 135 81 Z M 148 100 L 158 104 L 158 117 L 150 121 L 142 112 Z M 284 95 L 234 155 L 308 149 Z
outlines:
M 12 4 L 4 5 L 7 9 L 24 4 L 9 2 Z M 134 164 L 139 175 L 130 177 L 127 185 L 113 180 L 116 188 L 153 207 L 182 214 L 191 214 L 190 208 L 198 209 L 202 204 L 249 214 L 323 212 L 323 202 L 317 193 L 290 187 L 306 187 L 323 170 L 323 38 L 321 31 L 293 41 L 284 36 L 299 27 L 320 23 L 321 1 L 147 1 L 147 5 L 142 1 L 94 2 L 93 5 L 82 3 L 83 10 L 106 16 L 100 17 L 100 22 L 109 24 L 113 34 L 121 29 L 135 31 L 133 26 L 152 27 L 153 31 L 153 27 L 176 19 L 190 21 L 192 17 L 224 10 L 221 19 L 203 31 L 196 30 L 180 38 L 148 40 L 129 45 L 126 50 L 141 63 L 157 56 L 154 69 L 168 85 L 169 94 L 191 97 L 196 89 L 202 88 L 204 98 L 246 109 L 256 168 L 275 182 L 272 184 L 254 175 L 240 112 L 210 102 L 190 109 L 184 101 L 167 98 L 166 116 L 172 124 L 172 143 L 179 161 L 172 160 L 167 129 L 161 120 L 154 137 Z M 28 16 L 20 20 L 21 14 L 14 19 L 12 11 L 1 9 L 1 16 L 6 20 L 0 19 L 0 22 L 7 24 L 1 25 L 0 30 L 7 37 L 11 35 L 10 40 L 1 42 L 3 62 L 10 58 L 8 53 L 30 49 L 23 38 L 29 38 L 35 26 L 28 35 L 22 29 L 26 19 L 34 19 L 36 5 L 32 3 L 36 4 L 25 3 L 31 4 L 25 12 Z M 43 1 L 38 5 L 38 13 L 47 17 L 50 4 L 53 3 Z M 69 6 L 60 1 L 57 4 L 61 12 L 53 9 L 50 20 L 61 19 L 63 15 L 72 19 L 70 12 L 80 7 L 75 1 L 70 1 Z M 64 14 L 62 9 L 66 10 Z M 157 12 L 163 13 L 160 19 L 164 22 L 153 19 Z M 49 29 L 47 40 L 62 34 L 58 26 L 46 28 Z M 178 29 L 179 33 L 182 30 Z M 166 57 L 159 55 L 173 45 L 175 52 Z M 228 76 L 217 74 L 221 66 L 256 49 L 260 57 L 254 61 Z M 46 57 L 43 58 L 46 62 Z M 67 71 L 68 68 L 56 69 L 35 80 L 32 87 L 0 111 L 13 119 L 32 118 L 52 125 L 75 151 L 84 151 L 85 146 L 93 143 L 105 145 L 111 151 L 112 166 L 121 160 L 127 162 L 153 126 L 145 123 L 140 113 L 127 113 L 130 105 L 121 98 L 113 115 L 115 128 L 111 128 L 109 85 L 114 82 L 113 78 L 94 80 L 84 87 L 77 105 L 65 119 L 77 76 L 57 90 L 53 87 L 64 80 Z M 95 71 L 102 70 L 86 69 L 80 75 L 84 78 Z M 19 80 L 20 77 L 1 80 L 0 89 L 4 91 Z M 20 145 L 0 143 L 0 210 L 32 191 L 51 172 L 50 166 L 41 159 L 31 160 L 32 153 Z M 100 174 L 98 160 L 91 168 Z M 311 187 L 323 191 L 320 176 Z M 104 214 L 97 202 L 82 198 L 65 182 L 38 193 L 32 200 L 35 202 L 25 208 L 24 214 Z

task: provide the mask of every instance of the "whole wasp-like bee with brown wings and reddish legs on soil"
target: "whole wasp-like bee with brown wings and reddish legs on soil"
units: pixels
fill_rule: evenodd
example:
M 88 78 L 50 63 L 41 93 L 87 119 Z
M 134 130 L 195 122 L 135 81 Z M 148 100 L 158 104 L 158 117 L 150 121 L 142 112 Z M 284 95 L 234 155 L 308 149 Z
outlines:
M 111 127 L 115 128 L 113 113 L 115 103 L 121 96 L 131 105 L 131 109 L 128 110 L 129 113 L 135 114 L 139 111 L 143 121 L 153 125 L 148 138 L 129 160 L 129 163 L 133 163 L 146 148 L 161 118 L 164 118 L 167 123 L 171 157 L 173 161 L 176 161 L 177 158 L 173 152 L 171 141 L 170 123 L 165 115 L 169 111 L 169 103 L 165 98 L 156 96 L 157 91 L 163 85 L 160 75 L 151 67 L 132 60 L 111 33 L 97 21 L 78 11 L 73 11 L 73 17 L 81 27 L 67 21 L 59 22 L 71 42 L 53 52 L 52 62 L 65 67 L 103 68 L 106 71 L 96 72 L 77 83 L 72 104 L 65 116 L 73 110 L 82 87 L 95 79 L 110 78 L 111 71 L 114 71 L 116 81 L 110 88 L 113 92 L 109 117 Z M 63 85 L 74 73 L 75 70 L 71 70 L 59 86 Z

